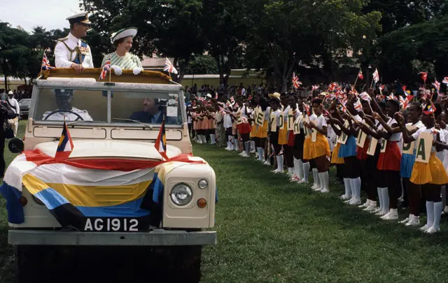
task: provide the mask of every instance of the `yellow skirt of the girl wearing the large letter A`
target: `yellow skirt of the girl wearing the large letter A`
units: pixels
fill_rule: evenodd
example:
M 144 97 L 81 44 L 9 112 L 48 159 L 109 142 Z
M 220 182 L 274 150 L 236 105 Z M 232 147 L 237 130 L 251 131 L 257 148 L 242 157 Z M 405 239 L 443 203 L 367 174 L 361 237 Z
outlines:
M 414 184 L 448 184 L 448 175 L 442 161 L 431 152 L 428 163 L 415 161 L 410 181 Z

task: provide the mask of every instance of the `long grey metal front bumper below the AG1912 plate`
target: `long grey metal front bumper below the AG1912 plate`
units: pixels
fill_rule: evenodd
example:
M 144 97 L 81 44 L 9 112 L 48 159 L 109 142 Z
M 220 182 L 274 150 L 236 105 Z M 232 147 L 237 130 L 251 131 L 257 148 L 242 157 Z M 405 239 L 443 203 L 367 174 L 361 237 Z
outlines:
M 216 231 L 151 232 L 78 232 L 78 231 L 8 231 L 10 245 L 94 245 L 94 246 L 188 246 L 216 245 Z

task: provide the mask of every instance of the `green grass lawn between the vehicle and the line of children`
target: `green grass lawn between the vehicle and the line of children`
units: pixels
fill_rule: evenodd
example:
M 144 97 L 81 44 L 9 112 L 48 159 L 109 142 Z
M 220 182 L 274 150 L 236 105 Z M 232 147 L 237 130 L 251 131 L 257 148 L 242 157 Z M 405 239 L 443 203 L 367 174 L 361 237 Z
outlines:
M 425 235 L 344 205 L 333 173 L 323 195 L 235 152 L 195 145 L 194 153 L 214 168 L 219 196 L 218 245 L 204 248 L 202 282 L 448 281 L 446 219 L 442 233 Z M 13 249 L 0 205 L 0 282 L 10 283 Z

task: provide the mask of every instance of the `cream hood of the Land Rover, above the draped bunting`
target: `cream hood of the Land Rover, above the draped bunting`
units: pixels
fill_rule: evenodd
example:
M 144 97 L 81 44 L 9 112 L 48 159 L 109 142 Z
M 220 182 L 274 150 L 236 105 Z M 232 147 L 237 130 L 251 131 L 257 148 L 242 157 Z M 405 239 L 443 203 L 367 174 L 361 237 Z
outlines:
M 55 157 L 59 141 L 39 143 L 35 150 L 41 150 L 44 154 Z M 179 147 L 167 145 L 169 158 L 181 154 Z M 144 158 L 162 160 L 162 157 L 154 147 L 154 143 L 137 142 L 127 140 L 73 140 L 73 152 L 70 158 Z

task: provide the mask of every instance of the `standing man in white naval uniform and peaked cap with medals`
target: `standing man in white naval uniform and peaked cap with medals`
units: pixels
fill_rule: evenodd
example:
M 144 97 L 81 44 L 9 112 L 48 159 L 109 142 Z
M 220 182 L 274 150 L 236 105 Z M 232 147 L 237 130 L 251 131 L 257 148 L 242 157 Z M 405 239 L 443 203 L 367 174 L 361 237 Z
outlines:
M 70 33 L 57 40 L 56 68 L 74 68 L 76 73 L 82 73 L 84 68 L 94 68 L 90 46 L 80 39 L 87 36 L 87 31 L 90 29 L 87 12 L 67 17 L 66 20 L 70 23 Z

